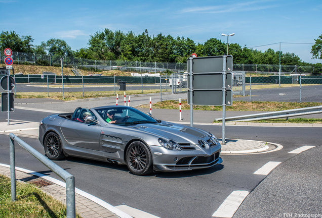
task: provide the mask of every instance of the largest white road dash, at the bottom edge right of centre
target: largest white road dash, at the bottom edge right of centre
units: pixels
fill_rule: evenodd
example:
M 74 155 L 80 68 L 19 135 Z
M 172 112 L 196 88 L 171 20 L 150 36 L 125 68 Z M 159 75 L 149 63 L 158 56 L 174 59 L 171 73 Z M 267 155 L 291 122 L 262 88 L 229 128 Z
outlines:
M 213 216 L 231 218 L 248 194 L 249 191 L 231 192 L 226 200 L 224 200 L 220 207 L 214 212 Z

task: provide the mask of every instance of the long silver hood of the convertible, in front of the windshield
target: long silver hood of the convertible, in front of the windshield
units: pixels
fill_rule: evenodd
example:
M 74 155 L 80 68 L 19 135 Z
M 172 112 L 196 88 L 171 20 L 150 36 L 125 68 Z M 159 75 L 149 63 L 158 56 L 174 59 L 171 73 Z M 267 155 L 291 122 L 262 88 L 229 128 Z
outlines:
M 164 121 L 157 124 L 138 124 L 129 128 L 151 133 L 160 138 L 174 140 L 178 143 L 198 144 L 199 139 L 208 137 L 208 132 L 204 130 Z

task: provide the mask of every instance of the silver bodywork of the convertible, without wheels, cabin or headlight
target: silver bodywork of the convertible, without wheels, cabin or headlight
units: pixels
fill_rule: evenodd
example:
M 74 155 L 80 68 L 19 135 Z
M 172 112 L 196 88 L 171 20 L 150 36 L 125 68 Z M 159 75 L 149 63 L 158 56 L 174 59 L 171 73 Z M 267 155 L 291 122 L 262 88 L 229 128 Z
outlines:
M 218 140 L 218 143 L 212 143 L 207 131 L 165 121 L 135 125 L 109 124 L 96 111 L 98 108 L 102 107 L 90 109 L 98 124 L 70 120 L 72 113 L 44 118 L 43 125 L 39 127 L 39 141 L 44 145 L 46 134 L 55 132 L 61 139 L 66 155 L 125 164 L 127 146 L 139 140 L 150 149 L 155 171 L 202 169 L 222 162 L 221 145 Z M 164 148 L 159 144 L 159 138 L 177 142 L 182 150 Z

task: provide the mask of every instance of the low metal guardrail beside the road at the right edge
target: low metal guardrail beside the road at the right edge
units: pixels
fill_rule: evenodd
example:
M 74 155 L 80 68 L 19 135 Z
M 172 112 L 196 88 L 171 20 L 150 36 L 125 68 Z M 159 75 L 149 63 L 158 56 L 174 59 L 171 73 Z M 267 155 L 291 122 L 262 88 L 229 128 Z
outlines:
M 319 114 L 319 113 L 322 113 L 322 105 L 298 108 L 293 110 L 278 111 L 278 112 L 268 112 L 268 113 L 261 113 L 261 114 L 229 117 L 229 118 L 226 118 L 225 120 L 226 121 L 270 120 L 270 119 L 288 118 L 288 117 L 303 116 L 303 115 L 309 115 L 309 114 Z M 222 121 L 222 118 L 217 118 L 215 120 Z

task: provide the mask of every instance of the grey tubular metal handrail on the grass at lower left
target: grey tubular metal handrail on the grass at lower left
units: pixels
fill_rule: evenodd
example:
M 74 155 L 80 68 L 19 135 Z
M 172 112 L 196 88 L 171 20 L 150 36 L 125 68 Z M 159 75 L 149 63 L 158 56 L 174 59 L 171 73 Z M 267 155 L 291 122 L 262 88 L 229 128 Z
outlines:
M 21 147 L 27 150 L 35 158 L 41 161 L 46 167 L 52 170 L 60 178 L 66 182 L 66 217 L 75 218 L 75 178 L 73 175 L 69 174 L 67 171 L 56 165 L 53 161 L 46 158 L 43 154 L 36 151 L 33 147 L 28 145 L 26 142 L 21 140 L 16 135 L 9 134 L 9 144 L 10 144 L 10 177 L 11 177 L 11 200 L 16 200 L 16 160 L 15 160 L 15 142 L 17 142 Z

